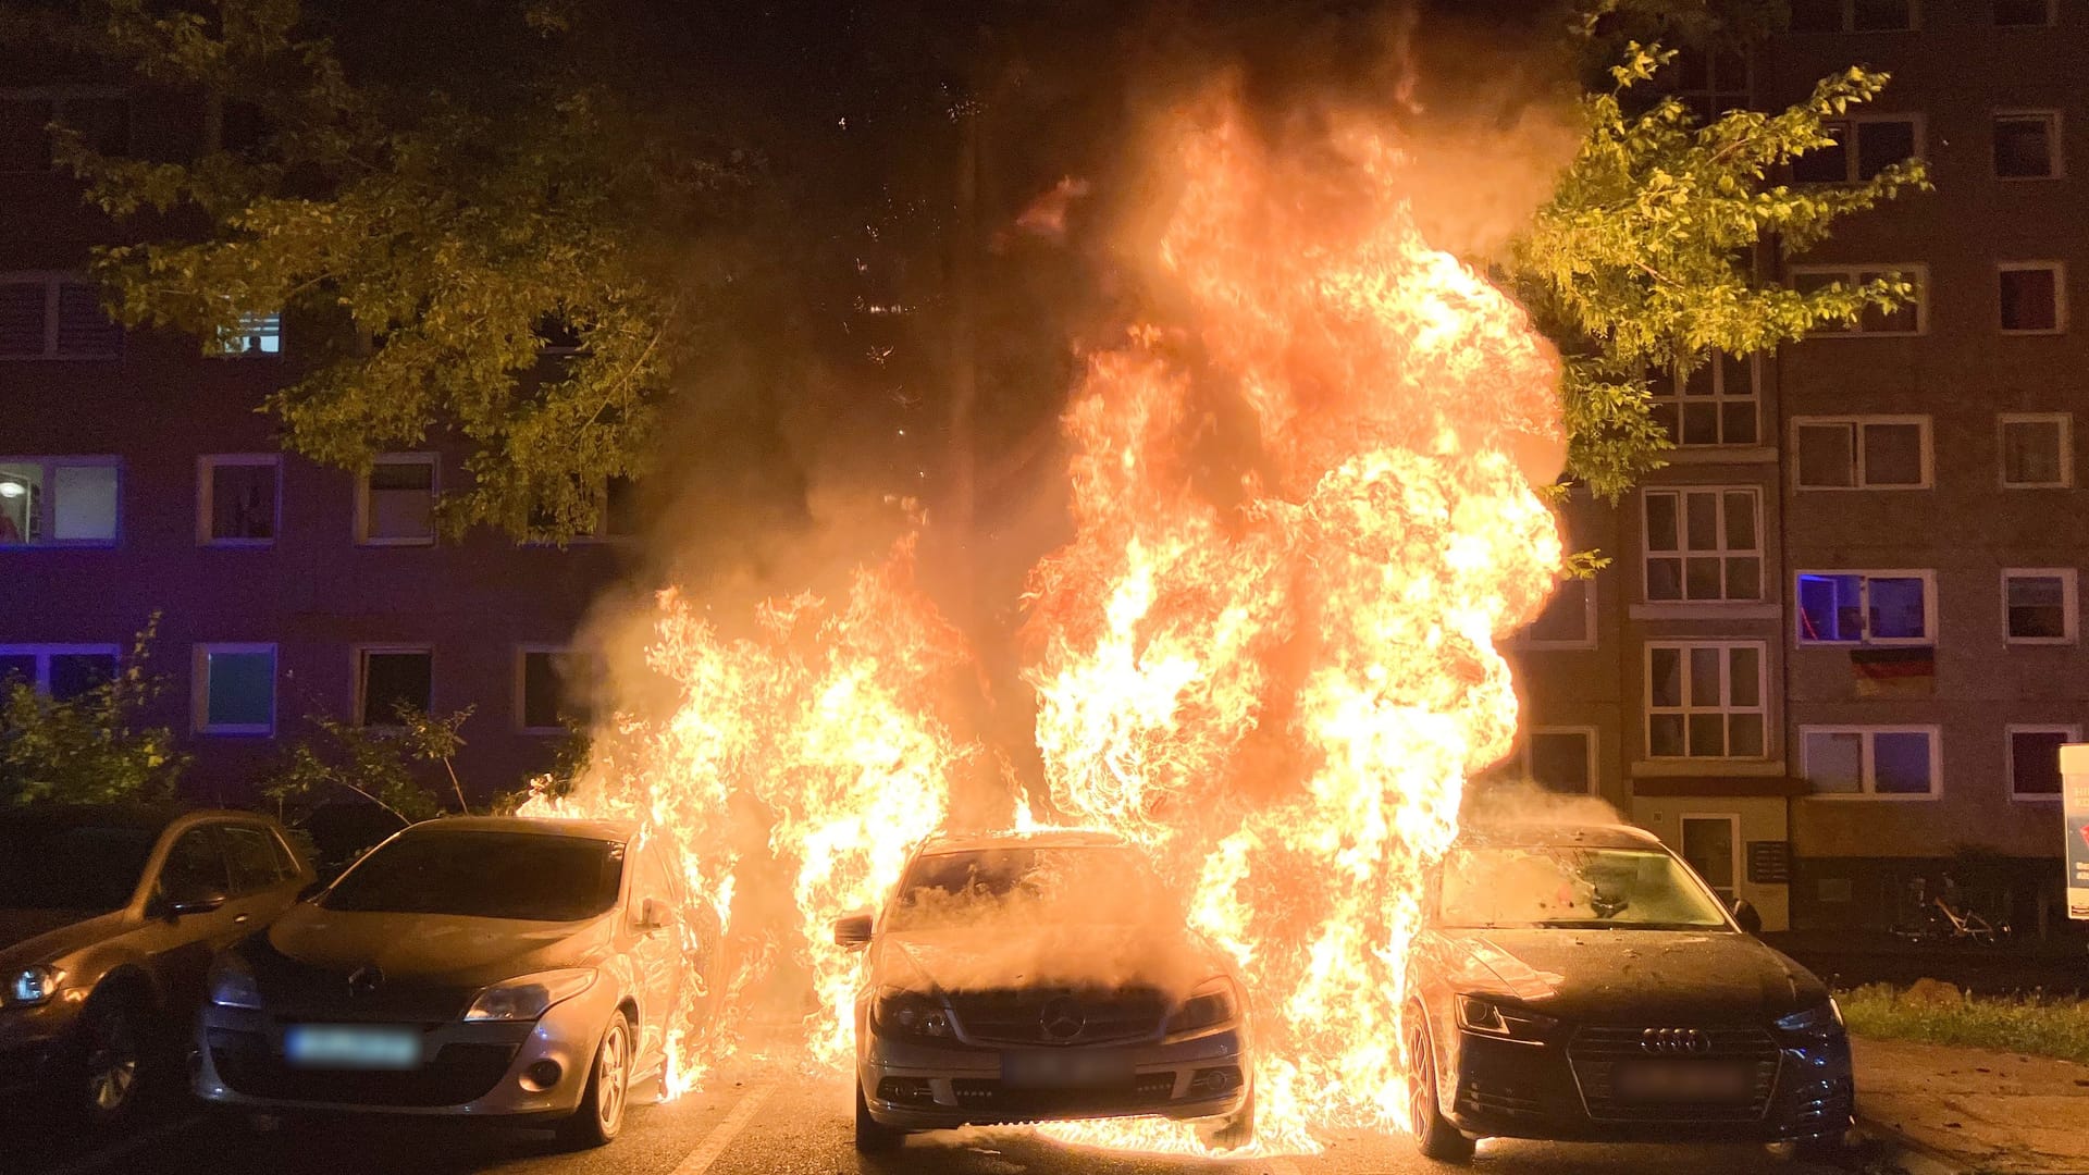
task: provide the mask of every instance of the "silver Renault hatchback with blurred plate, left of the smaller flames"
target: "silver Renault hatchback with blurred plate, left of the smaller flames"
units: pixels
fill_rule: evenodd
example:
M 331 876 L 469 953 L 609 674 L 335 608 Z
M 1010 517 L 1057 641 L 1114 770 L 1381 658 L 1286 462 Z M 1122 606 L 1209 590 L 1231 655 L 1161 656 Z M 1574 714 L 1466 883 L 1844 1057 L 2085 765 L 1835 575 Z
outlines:
M 447 817 L 391 836 L 217 958 L 196 1093 L 249 1112 L 551 1125 L 600 1146 L 662 1073 L 681 868 L 625 822 Z

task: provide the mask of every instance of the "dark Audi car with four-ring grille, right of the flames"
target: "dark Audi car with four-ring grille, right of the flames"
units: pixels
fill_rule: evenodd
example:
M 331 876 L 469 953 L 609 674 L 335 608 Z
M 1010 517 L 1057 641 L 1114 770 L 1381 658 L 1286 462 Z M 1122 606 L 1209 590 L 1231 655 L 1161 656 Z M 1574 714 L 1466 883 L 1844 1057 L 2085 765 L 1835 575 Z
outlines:
M 1431 1158 L 1471 1158 L 1477 1137 L 1822 1156 L 1851 1125 L 1828 989 L 1638 828 L 1466 832 L 1431 878 L 1408 991 L 1408 1110 Z

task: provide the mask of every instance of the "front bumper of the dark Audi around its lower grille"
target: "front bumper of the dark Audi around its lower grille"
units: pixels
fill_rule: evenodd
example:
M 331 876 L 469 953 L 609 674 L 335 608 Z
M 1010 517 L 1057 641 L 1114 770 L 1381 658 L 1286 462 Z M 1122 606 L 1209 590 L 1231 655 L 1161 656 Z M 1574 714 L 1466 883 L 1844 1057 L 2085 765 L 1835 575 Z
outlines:
M 1767 1033 L 1765 1033 L 1767 1037 Z M 1801 1142 L 1840 1137 L 1855 1108 L 1849 1039 L 1778 1039 L 1746 1104 L 1634 1104 L 1609 1096 L 1611 1070 L 1563 1043 L 1460 1033 L 1439 1089 L 1446 1116 L 1475 1137 L 1558 1142 Z

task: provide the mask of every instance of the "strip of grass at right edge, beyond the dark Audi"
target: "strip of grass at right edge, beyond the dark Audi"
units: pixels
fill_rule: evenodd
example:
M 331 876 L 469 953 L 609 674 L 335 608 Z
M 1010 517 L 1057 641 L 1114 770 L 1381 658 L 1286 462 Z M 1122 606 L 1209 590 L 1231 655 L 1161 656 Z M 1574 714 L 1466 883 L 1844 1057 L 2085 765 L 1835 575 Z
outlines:
M 1995 1052 L 2056 1056 L 2089 1064 L 2089 1004 L 2012 995 L 1966 997 L 1957 1004 L 1909 1004 L 1874 983 L 1836 995 L 1842 1020 L 1859 1037 L 1970 1045 Z

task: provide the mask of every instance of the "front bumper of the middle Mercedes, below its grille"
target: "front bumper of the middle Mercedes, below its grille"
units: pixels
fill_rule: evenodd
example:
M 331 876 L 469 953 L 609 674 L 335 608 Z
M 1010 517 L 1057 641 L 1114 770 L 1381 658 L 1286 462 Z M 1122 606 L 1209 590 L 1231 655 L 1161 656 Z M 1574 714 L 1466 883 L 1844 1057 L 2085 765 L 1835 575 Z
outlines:
M 1122 1116 L 1220 1119 L 1249 1100 L 1251 1068 L 1239 1029 L 1113 1050 L 1128 1054 L 1128 1085 L 1011 1085 L 1003 1079 L 1005 1052 L 1036 1050 L 867 1033 L 856 1079 L 871 1119 L 911 1131 Z

